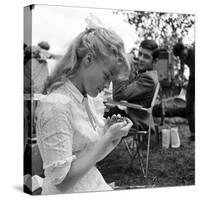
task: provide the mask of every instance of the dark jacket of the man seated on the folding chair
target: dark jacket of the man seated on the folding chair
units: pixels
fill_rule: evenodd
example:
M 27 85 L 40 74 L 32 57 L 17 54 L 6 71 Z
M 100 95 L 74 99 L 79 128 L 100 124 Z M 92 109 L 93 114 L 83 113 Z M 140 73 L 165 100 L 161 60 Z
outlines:
M 158 83 L 158 75 L 155 70 L 147 70 L 138 75 L 133 80 L 113 82 L 113 100 L 128 101 L 139 104 L 143 107 L 150 107 L 153 95 Z M 133 126 L 139 130 L 148 128 L 149 114 L 145 111 L 128 108 L 127 113 L 133 121 Z M 154 129 L 154 123 L 151 124 Z

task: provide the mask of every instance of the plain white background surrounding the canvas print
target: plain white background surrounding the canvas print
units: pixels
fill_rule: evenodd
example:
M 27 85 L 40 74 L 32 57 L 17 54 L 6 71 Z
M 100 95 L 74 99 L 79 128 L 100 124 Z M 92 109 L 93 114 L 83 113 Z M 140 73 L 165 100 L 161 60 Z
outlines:
M 100 8 L 123 8 L 131 10 L 183 12 L 196 14 L 196 36 L 200 35 L 200 13 L 198 13 L 197 1 L 174 1 L 161 2 L 157 0 L 133 2 L 133 0 L 116 1 L 6 1 L 3 3 L 1 20 L 3 21 L 3 33 L 1 36 L 1 197 L 9 199 L 34 198 L 22 192 L 22 138 L 23 138 L 23 73 L 22 73 L 22 44 L 23 44 L 23 6 L 31 3 L 50 5 L 72 5 Z M 196 37 L 196 55 L 199 55 L 199 39 Z M 199 74 L 199 57 L 196 56 L 196 74 Z M 198 79 L 198 77 L 197 77 Z M 198 86 L 198 80 L 196 85 Z M 196 99 L 199 99 L 199 92 L 196 90 Z M 199 129 L 198 113 L 199 106 L 196 101 L 196 125 Z M 158 188 L 145 190 L 129 190 L 116 192 L 84 193 L 53 195 L 48 197 L 38 196 L 35 198 L 48 199 L 188 199 L 196 198 L 199 193 L 199 135 L 196 140 L 196 186 Z

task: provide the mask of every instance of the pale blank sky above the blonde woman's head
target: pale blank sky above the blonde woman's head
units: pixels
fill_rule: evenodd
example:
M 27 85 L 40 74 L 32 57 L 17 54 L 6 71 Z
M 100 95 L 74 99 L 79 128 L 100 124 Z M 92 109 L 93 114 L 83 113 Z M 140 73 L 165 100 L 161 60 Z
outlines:
M 33 9 L 32 44 L 46 40 L 51 45 L 52 53 L 64 53 L 72 39 L 85 30 L 85 19 L 90 13 L 122 37 L 126 51 L 131 50 L 137 36 L 134 27 L 125 22 L 125 16 L 114 15 L 110 9 L 48 5 L 36 5 Z

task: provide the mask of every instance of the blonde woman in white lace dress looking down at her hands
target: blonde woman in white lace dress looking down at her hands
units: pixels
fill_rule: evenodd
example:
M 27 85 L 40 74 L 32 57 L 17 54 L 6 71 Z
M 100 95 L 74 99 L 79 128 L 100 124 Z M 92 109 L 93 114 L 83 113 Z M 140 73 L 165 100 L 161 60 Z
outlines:
M 129 71 L 122 39 L 106 28 L 89 28 L 71 43 L 45 84 L 36 109 L 36 132 L 45 178 L 42 194 L 105 191 L 95 164 L 128 134 L 131 120 L 100 127 L 88 96 L 96 97 Z M 123 73 L 121 73 L 121 70 Z

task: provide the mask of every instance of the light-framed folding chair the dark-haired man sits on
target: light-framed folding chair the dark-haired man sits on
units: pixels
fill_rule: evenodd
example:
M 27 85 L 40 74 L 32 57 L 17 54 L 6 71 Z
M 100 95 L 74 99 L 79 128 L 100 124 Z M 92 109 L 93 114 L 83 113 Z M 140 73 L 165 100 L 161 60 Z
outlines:
M 136 157 L 138 157 L 139 162 L 140 162 L 140 167 L 143 173 L 144 178 L 147 178 L 148 176 L 148 167 L 149 167 L 149 151 L 150 151 L 150 139 L 151 139 L 151 124 L 153 121 L 153 115 L 152 115 L 152 110 L 153 110 L 153 106 L 155 104 L 157 95 L 158 95 L 158 91 L 160 88 L 160 84 L 157 83 L 156 88 L 155 88 L 155 92 L 152 98 L 152 102 L 149 108 L 144 108 L 141 105 L 138 104 L 132 104 L 132 103 L 128 103 L 125 101 L 120 101 L 120 102 L 116 102 L 116 101 L 109 101 L 106 103 L 106 105 L 110 105 L 110 106 L 122 106 L 122 107 L 126 107 L 126 108 L 134 108 L 137 110 L 143 110 L 147 113 L 149 113 L 149 125 L 148 125 L 148 130 L 144 130 L 144 131 L 138 131 L 134 128 L 131 128 L 129 131 L 129 134 L 127 137 L 123 138 L 123 141 L 126 145 L 126 149 L 131 157 L 131 165 L 134 161 L 134 159 Z M 142 137 L 144 135 L 147 135 L 147 153 L 146 153 L 146 163 L 145 163 L 145 167 L 144 167 L 144 163 L 143 163 L 143 153 L 142 153 Z M 127 142 L 127 138 L 128 137 L 132 137 L 132 144 L 129 145 Z M 131 147 L 132 146 L 132 147 Z

